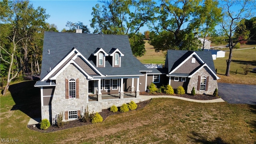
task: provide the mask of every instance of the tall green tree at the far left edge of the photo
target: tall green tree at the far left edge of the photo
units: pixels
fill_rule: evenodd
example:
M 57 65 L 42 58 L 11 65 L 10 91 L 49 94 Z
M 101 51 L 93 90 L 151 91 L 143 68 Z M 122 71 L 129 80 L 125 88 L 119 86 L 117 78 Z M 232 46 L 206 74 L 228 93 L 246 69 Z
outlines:
M 25 71 L 28 71 L 30 42 L 34 39 L 36 32 L 44 32 L 45 19 L 49 15 L 45 14 L 44 8 L 34 9 L 28 1 L 4 0 L 0 2 L 0 6 L 1 26 L 10 26 L 10 29 L 5 30 L 4 33 L 1 31 L 1 34 L 6 34 L 5 42 L 8 43 L 9 40 L 9 44 L 4 43 L 0 46 L 0 58 L 5 64 L 8 64 L 7 82 L 3 92 L 5 95 L 10 82 L 16 78 L 21 68 L 24 66 Z M 18 58 L 24 63 L 20 62 L 21 64 L 18 65 Z

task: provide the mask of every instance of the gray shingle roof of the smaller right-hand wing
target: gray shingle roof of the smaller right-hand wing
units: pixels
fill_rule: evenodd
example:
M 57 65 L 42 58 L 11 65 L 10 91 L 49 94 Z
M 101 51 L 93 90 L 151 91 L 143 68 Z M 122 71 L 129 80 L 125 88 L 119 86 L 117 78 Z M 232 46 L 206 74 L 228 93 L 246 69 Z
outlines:
M 215 67 L 212 60 L 212 54 L 209 51 L 188 51 L 188 50 L 168 50 L 166 58 L 168 59 L 168 73 L 182 63 L 193 52 L 196 54 L 211 68 L 215 73 Z M 216 73 L 215 73 L 216 74 Z

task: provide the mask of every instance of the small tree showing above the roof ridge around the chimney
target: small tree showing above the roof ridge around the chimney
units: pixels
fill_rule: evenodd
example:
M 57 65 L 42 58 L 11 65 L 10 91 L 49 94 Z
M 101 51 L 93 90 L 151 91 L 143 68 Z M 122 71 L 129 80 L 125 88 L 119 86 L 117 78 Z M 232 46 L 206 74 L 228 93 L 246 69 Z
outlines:
M 79 28 L 82 29 L 82 33 L 90 33 L 90 30 L 82 22 L 73 23 L 68 21 L 66 26 L 69 27 L 69 30 L 64 31 L 63 29 L 62 32 L 76 32 L 76 29 Z

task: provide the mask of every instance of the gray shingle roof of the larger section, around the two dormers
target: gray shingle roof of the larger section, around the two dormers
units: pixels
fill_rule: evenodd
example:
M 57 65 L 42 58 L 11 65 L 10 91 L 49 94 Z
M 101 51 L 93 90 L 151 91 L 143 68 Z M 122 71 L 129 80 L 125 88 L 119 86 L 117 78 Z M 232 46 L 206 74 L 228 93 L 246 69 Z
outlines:
M 127 35 L 85 34 L 68 32 L 45 32 L 41 68 L 44 78 L 67 54 L 76 48 L 96 67 L 96 57 L 92 54 L 102 48 L 106 53 L 118 48 L 124 54 L 121 67 L 112 67 L 112 58 L 106 58 L 106 67 L 97 68 L 103 75 L 138 75 L 147 68 L 133 55 Z M 48 54 L 50 50 L 50 54 Z M 107 56 L 110 57 L 110 56 Z

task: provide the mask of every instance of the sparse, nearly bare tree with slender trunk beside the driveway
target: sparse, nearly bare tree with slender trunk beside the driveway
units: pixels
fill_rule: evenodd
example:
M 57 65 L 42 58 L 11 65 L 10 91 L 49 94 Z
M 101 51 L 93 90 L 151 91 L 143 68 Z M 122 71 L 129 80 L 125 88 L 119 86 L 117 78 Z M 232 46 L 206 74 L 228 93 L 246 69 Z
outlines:
M 244 40 L 248 40 L 249 33 L 246 29 L 244 29 L 243 26 L 241 26 L 240 21 L 244 20 L 250 16 L 253 16 L 251 14 L 252 10 L 255 10 L 255 1 L 250 1 L 250 0 L 226 0 L 223 5 L 223 20 L 221 27 L 224 30 L 224 33 L 226 36 L 228 36 L 228 43 L 229 43 L 229 56 L 228 60 L 226 61 L 227 67 L 226 67 L 226 76 L 230 76 L 229 71 L 230 71 L 230 64 L 232 60 L 232 50 L 238 44 L 242 39 L 237 40 L 233 44 L 233 33 L 235 32 L 236 29 L 239 29 L 239 35 L 244 36 Z M 237 9 L 236 7 L 240 6 L 240 9 Z M 239 24 L 240 23 L 240 24 Z

